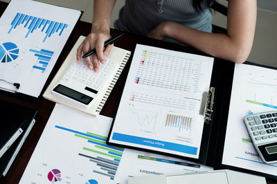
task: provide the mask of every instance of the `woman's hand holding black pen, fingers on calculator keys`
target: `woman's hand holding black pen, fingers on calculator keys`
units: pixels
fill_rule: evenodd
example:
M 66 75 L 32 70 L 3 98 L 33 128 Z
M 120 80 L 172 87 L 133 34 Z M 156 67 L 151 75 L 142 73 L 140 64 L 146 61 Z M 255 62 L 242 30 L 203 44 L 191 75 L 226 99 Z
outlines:
M 109 34 L 109 30 L 94 29 L 79 46 L 77 50 L 77 62 L 81 62 L 82 53 L 85 54 L 95 48 L 96 53 L 84 58 L 84 60 L 87 62 L 87 65 L 91 70 L 98 72 L 99 61 L 101 63 L 105 63 L 106 57 L 109 55 L 111 48 L 113 48 L 114 46 L 114 44 L 112 44 L 107 45 L 104 48 L 105 41 L 107 41 L 110 38 L 111 34 Z

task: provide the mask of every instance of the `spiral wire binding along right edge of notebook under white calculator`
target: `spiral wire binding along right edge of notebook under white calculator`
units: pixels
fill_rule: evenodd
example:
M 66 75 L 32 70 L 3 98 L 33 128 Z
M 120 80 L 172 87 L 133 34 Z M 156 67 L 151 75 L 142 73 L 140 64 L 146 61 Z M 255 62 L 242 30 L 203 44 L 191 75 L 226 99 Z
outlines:
M 123 71 L 129 57 L 131 56 L 131 54 L 127 53 L 125 58 L 123 59 L 123 62 L 120 64 L 118 70 L 116 71 L 116 74 L 114 75 L 114 78 L 111 80 L 111 84 L 109 85 L 109 88 L 107 88 L 107 91 L 105 92 L 105 95 L 103 96 L 100 104 L 97 107 L 96 112 L 100 113 L 102 108 L 105 105 L 105 102 L 107 101 L 109 94 L 111 94 L 111 90 L 114 88 L 114 85 L 116 85 L 116 81 L 118 80 L 121 72 Z

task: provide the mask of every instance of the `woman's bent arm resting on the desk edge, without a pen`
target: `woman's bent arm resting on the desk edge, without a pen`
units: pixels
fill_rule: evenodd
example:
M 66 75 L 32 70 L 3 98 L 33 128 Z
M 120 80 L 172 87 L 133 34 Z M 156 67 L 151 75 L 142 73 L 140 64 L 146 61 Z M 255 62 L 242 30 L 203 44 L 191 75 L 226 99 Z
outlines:
M 202 52 L 236 63 L 247 60 L 256 28 L 256 0 L 229 0 L 227 34 L 201 32 L 175 22 L 163 22 L 149 37 L 170 37 Z

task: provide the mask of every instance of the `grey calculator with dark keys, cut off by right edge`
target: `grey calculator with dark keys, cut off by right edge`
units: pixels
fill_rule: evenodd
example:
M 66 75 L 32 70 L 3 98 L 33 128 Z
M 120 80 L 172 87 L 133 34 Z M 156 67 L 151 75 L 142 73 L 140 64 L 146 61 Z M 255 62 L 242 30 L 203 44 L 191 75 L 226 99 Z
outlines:
M 277 162 L 277 110 L 244 117 L 244 123 L 264 163 Z

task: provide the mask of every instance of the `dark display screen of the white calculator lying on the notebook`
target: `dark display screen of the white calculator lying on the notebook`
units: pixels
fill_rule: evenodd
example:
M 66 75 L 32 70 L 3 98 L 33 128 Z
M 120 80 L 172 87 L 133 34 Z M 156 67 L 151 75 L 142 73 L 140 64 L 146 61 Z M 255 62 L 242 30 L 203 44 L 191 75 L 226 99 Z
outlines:
M 67 88 L 64 85 L 57 85 L 57 87 L 54 89 L 55 92 L 58 92 L 60 94 L 63 94 L 64 96 L 67 96 L 71 99 L 74 99 L 75 101 L 79 101 L 80 103 L 84 103 L 85 105 L 88 105 L 93 98 L 90 96 L 87 96 L 85 94 L 82 94 L 78 91 L 75 91 L 71 88 Z

